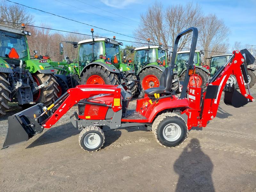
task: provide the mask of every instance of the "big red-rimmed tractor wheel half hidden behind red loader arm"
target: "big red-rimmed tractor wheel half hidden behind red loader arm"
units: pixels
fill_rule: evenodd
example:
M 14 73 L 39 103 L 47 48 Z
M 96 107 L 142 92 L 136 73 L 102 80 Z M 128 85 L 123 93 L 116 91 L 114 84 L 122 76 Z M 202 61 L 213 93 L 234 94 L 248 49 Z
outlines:
M 116 74 L 111 73 L 102 66 L 94 65 L 83 72 L 80 84 L 107 84 L 118 85 L 120 84 Z

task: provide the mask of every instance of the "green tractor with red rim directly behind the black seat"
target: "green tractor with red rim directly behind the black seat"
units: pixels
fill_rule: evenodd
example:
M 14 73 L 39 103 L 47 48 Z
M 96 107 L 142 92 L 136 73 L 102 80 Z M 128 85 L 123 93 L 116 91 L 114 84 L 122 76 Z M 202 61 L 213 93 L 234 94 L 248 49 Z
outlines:
M 134 60 L 132 68 L 134 69 L 137 78 L 140 79 L 140 97 L 143 97 L 144 91 L 151 87 L 159 87 L 160 77 L 168 67 L 166 50 L 159 46 L 139 47 L 134 50 Z M 124 54 L 125 57 L 125 54 Z M 174 71 L 175 74 L 177 72 Z M 173 76 L 172 89 L 177 90 L 179 87 L 179 78 L 177 75 Z

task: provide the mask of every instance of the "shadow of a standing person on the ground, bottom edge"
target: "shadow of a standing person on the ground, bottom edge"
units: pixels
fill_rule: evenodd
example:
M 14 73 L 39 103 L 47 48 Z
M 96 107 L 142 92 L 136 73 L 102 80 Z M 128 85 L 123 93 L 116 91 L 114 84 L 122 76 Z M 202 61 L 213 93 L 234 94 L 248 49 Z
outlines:
M 215 191 L 212 182 L 213 164 L 210 157 L 201 150 L 198 139 L 191 139 L 175 161 L 173 168 L 179 174 L 176 192 Z

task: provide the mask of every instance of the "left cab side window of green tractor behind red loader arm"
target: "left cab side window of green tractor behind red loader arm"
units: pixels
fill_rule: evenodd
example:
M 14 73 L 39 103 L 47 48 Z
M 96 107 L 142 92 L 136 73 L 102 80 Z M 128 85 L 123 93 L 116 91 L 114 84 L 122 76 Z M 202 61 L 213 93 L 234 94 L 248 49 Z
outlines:
M 103 55 L 103 46 L 101 42 L 94 42 L 93 58 L 92 58 L 92 42 L 87 44 L 81 44 L 79 49 L 79 63 L 82 66 L 85 66 L 94 60 L 100 59 L 100 55 Z

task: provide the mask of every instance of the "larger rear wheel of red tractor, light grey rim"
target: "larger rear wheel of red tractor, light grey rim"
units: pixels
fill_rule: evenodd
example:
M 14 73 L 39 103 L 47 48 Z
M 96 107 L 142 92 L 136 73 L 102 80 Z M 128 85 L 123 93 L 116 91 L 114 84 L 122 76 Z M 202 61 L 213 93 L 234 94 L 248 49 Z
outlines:
M 181 145 L 187 139 L 188 126 L 181 116 L 167 112 L 156 117 L 152 132 L 160 145 L 171 148 Z

